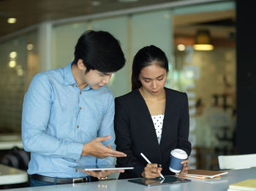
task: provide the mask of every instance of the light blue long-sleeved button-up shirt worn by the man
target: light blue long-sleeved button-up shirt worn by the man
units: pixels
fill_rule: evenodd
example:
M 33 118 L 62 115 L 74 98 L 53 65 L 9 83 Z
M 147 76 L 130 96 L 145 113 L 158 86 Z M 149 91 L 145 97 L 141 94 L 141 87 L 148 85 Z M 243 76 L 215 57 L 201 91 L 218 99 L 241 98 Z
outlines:
M 80 90 L 71 64 L 34 76 L 22 112 L 23 147 L 31 152 L 28 174 L 59 178 L 87 176 L 72 165 L 113 165 L 114 158 L 81 156 L 83 144 L 111 136 L 102 144 L 116 149 L 113 94 L 108 87 Z

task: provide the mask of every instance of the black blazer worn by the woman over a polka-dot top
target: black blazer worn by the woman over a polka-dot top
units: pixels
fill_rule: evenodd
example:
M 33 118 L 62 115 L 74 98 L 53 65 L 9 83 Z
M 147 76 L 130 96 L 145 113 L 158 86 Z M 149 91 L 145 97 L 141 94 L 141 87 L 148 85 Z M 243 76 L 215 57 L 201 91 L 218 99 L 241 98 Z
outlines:
M 165 94 L 165 117 L 160 144 L 150 112 L 139 90 L 115 99 L 116 150 L 127 154 L 127 157 L 118 157 L 117 166 L 135 167 L 134 170 L 121 173 L 119 179 L 141 177 L 147 163 L 140 152 L 151 163 L 162 164 L 163 175 L 173 174 L 169 171 L 172 149 L 183 149 L 190 154 L 187 94 L 166 87 Z

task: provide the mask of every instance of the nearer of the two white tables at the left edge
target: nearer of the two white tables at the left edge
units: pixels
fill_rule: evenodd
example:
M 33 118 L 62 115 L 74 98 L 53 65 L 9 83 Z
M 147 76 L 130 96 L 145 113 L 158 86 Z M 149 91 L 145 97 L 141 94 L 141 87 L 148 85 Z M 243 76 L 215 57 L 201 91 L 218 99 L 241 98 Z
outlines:
M 28 174 L 17 168 L 0 164 L 0 185 L 20 184 L 28 181 Z

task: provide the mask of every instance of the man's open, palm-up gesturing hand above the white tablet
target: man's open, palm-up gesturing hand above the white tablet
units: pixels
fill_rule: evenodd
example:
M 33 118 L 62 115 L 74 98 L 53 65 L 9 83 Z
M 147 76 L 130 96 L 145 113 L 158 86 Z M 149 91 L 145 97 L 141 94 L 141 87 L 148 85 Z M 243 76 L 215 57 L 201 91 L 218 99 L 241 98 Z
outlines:
M 127 155 L 124 152 L 118 152 L 111 149 L 109 144 L 107 145 L 107 147 L 102 144 L 102 141 L 107 141 L 108 139 L 110 139 L 110 137 L 111 136 L 97 137 L 89 143 L 84 144 L 82 156 L 91 155 L 98 158 L 126 157 Z

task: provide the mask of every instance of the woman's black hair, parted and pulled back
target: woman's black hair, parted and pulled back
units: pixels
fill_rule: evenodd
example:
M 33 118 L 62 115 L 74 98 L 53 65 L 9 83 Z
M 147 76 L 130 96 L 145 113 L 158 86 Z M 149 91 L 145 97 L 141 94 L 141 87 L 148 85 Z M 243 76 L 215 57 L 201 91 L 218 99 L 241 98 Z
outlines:
M 169 71 L 165 52 L 159 49 L 159 47 L 151 45 L 143 47 L 137 52 L 132 62 L 132 90 L 141 87 L 141 82 L 139 80 L 140 71 L 146 66 L 151 66 L 154 61 L 157 61 L 156 64 L 165 69 L 166 72 Z

